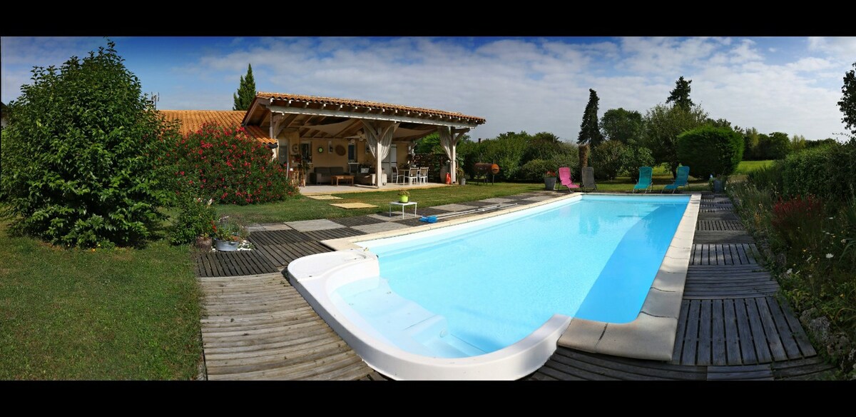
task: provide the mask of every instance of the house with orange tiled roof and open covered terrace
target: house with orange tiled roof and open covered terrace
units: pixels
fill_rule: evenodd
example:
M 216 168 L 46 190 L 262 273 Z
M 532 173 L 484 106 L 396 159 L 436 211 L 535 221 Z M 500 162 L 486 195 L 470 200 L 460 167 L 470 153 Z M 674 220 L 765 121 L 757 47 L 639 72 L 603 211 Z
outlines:
M 182 133 L 210 121 L 241 124 L 253 139 L 269 144 L 272 158 L 289 169 L 309 163 L 318 172 L 334 168 L 352 174 L 381 171 L 389 176 L 392 166 L 407 161 L 416 140 L 439 132 L 453 161 L 453 182 L 455 145 L 463 134 L 485 122 L 482 117 L 451 111 L 276 92 L 259 92 L 247 111 L 160 112 L 181 122 Z

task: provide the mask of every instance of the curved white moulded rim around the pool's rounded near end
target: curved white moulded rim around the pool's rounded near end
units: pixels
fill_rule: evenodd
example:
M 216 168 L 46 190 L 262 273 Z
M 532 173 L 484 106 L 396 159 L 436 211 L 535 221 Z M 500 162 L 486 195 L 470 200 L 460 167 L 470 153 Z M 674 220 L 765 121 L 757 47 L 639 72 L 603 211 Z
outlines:
M 293 266 L 294 265 L 294 266 Z M 318 275 L 316 275 L 318 274 Z M 354 349 L 366 364 L 389 378 L 407 380 L 517 379 L 538 367 L 556 350 L 556 342 L 571 318 L 555 314 L 518 343 L 464 358 L 435 358 L 412 354 L 389 343 L 359 314 L 346 314 L 333 297 L 337 288 L 377 277 L 377 256 L 363 249 L 318 253 L 288 265 L 288 281 L 316 313 Z

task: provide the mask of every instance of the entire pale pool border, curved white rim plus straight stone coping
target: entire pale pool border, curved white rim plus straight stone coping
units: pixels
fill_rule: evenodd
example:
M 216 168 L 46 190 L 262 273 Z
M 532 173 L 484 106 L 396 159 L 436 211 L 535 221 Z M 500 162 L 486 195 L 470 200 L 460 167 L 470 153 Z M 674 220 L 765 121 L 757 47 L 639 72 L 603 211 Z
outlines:
M 590 193 L 595 195 L 615 195 Z M 336 252 L 319 253 L 296 259 L 288 265 L 288 280 L 312 308 L 339 334 L 369 366 L 395 379 L 516 379 L 537 370 L 550 359 L 556 346 L 577 348 L 592 353 L 670 360 L 675 345 L 678 315 L 681 310 L 687 266 L 693 244 L 701 194 L 690 194 L 675 236 L 651 284 L 639 316 L 627 324 L 609 324 L 554 315 L 538 330 L 507 348 L 467 358 L 433 358 L 409 353 L 391 343 L 360 319 L 348 319 L 330 299 L 345 283 L 379 275 L 377 257 L 356 245 L 370 241 L 409 235 L 425 230 L 470 223 L 514 211 L 544 206 L 560 200 L 580 198 L 567 194 L 525 206 L 508 206 L 477 216 L 452 219 L 443 223 L 425 223 L 419 227 L 389 230 L 372 235 L 322 241 Z M 621 194 L 623 195 L 623 194 Z M 639 196 L 639 194 L 636 194 Z M 663 194 L 642 194 L 663 197 Z M 687 194 L 683 194 L 687 195 Z M 352 317 L 359 317 L 352 315 Z

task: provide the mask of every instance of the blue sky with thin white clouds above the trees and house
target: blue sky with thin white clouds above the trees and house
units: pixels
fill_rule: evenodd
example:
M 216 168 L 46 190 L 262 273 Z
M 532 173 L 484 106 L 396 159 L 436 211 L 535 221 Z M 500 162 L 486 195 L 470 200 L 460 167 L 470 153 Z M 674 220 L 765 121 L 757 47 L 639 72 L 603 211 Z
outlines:
M 576 140 L 588 89 L 599 115 L 643 114 L 675 80 L 713 118 L 762 133 L 836 137 L 837 102 L 856 61 L 849 38 L 113 38 L 158 109 L 231 110 L 253 64 L 256 88 L 406 104 L 482 116 L 471 133 L 548 131 Z M 0 39 L 2 100 L 18 97 L 33 66 L 85 56 L 104 39 Z

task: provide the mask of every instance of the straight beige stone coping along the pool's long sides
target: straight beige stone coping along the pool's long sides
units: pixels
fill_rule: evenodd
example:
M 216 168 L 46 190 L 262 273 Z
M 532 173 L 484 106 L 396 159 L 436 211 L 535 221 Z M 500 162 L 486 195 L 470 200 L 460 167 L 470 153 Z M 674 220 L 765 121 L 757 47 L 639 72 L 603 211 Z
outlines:
M 616 195 L 609 193 L 586 194 Z M 321 241 L 321 244 L 333 250 L 362 249 L 362 247 L 355 243 L 469 223 L 483 218 L 526 210 L 530 207 L 544 206 L 559 200 L 572 199 L 578 195 L 583 194 L 566 194 L 525 206 L 507 206 L 479 215 L 450 219 L 448 222 L 425 223 L 425 225 L 415 228 L 395 229 L 371 235 L 331 239 Z M 664 194 L 636 195 L 639 195 L 640 198 L 644 198 L 645 196 L 665 196 Z M 659 271 L 657 271 L 657 276 L 654 277 L 654 282 L 651 283 L 651 289 L 648 290 L 645 303 L 642 305 L 637 318 L 625 324 L 571 319 L 568 329 L 559 338 L 558 345 L 597 354 L 612 354 L 647 360 L 671 360 L 672 351 L 675 347 L 678 316 L 681 313 L 684 283 L 687 281 L 687 268 L 693 247 L 693 236 L 695 235 L 696 221 L 698 220 L 698 209 L 701 204 L 700 193 L 689 193 L 689 195 L 690 201 L 687 204 L 687 210 L 684 211 L 681 217 L 681 223 L 678 223 L 675 236 L 669 244 L 669 249 L 666 250 L 663 263 L 660 265 Z

